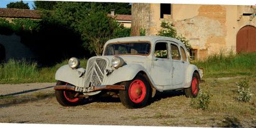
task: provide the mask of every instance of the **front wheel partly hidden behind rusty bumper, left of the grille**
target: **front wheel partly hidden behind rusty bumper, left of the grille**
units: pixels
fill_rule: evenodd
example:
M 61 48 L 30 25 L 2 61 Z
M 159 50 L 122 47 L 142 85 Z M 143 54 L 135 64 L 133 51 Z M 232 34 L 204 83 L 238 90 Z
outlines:
M 66 85 L 67 82 L 57 81 L 56 85 Z M 56 90 L 55 96 L 61 106 L 77 106 L 81 104 L 82 99 L 74 98 L 74 91 Z

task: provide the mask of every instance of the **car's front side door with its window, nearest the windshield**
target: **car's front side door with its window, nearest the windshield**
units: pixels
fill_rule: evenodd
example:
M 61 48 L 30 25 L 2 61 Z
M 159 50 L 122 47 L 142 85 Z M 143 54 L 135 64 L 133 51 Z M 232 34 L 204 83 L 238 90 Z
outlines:
M 150 75 L 157 86 L 170 86 L 172 84 L 172 62 L 170 60 L 169 51 L 170 42 L 156 42 L 154 47 L 154 55 L 152 57 Z

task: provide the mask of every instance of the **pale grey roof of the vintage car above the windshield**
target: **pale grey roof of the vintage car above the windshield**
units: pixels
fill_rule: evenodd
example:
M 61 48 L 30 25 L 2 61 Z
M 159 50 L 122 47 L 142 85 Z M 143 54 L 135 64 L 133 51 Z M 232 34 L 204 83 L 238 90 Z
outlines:
M 184 46 L 184 44 L 172 37 L 165 37 L 165 36 L 130 36 L 130 37 L 121 37 L 121 38 L 116 38 L 116 39 L 111 39 L 106 42 L 105 46 L 110 43 L 115 43 L 115 42 L 134 42 L 134 41 L 148 41 L 151 44 L 154 44 L 155 41 L 159 40 L 165 40 L 165 41 L 174 41 L 180 44 L 181 46 Z M 184 46 L 185 47 L 185 46 Z

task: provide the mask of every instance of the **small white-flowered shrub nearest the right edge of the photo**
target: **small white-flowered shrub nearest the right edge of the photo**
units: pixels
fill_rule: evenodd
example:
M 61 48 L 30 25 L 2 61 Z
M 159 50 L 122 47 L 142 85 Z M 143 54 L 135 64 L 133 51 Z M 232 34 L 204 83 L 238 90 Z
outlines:
M 252 91 L 250 91 L 248 79 L 237 83 L 237 88 L 237 97 L 235 97 L 237 101 L 249 102 L 252 99 Z

